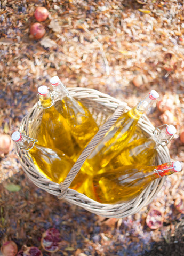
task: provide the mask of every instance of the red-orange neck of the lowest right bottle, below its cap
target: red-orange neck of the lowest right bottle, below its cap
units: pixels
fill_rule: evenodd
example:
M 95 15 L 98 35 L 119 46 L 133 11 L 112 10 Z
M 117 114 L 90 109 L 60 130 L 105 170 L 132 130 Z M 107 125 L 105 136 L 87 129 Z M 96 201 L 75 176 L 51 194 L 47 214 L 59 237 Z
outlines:
M 175 171 L 174 162 L 161 164 L 155 167 L 154 172 L 157 178 L 171 175 Z

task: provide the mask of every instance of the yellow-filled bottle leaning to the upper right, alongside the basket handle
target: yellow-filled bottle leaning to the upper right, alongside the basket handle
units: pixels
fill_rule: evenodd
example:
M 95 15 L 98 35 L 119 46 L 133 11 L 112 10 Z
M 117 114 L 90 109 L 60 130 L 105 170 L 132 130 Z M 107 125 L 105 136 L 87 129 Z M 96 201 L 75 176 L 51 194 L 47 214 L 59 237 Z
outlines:
M 151 90 L 137 106 L 123 113 L 94 148 L 81 170 L 89 175 L 95 175 L 101 168 L 107 166 L 110 160 L 126 147 L 134 136 L 140 117 L 158 97 L 159 94 Z

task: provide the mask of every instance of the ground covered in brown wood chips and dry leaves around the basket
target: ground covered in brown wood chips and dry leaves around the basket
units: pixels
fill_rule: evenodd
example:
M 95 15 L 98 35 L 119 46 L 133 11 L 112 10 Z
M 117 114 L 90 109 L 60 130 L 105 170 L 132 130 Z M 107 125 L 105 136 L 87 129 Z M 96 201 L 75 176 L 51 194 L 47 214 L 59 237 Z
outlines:
M 49 10 L 46 34 L 34 40 L 30 25 L 37 6 Z M 0 2 L 0 133 L 11 136 L 36 102 L 37 88 L 58 75 L 67 87 L 89 87 L 135 106 L 150 89 L 169 98 L 167 111 L 155 106 L 154 126 L 173 124 L 172 159 L 183 162 L 184 9 L 183 1 L 2 0 Z M 169 110 L 168 110 L 169 109 Z M 183 130 L 182 130 L 183 129 Z M 0 158 L 0 241 L 39 247 L 44 256 L 183 255 L 183 171 L 167 177 L 147 207 L 123 219 L 103 218 L 59 201 L 25 175 L 15 150 Z M 18 185 L 11 191 L 8 185 Z M 180 207 L 180 209 L 181 209 Z M 163 214 L 151 230 L 150 209 Z M 62 245 L 48 253 L 43 232 L 60 230 Z

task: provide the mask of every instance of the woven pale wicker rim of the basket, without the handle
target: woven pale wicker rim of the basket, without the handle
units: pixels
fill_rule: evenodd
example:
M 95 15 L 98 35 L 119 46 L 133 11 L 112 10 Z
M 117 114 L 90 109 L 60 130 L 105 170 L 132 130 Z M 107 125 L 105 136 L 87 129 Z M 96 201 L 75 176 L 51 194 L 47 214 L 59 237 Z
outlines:
M 129 110 L 130 107 L 127 103 L 119 101 L 114 97 L 111 97 L 108 94 L 101 93 L 95 89 L 86 89 L 82 87 L 69 87 L 68 91 L 70 95 L 78 100 L 87 99 L 90 102 L 95 104 L 103 105 L 105 108 L 109 109 L 112 113 L 117 109 L 119 104 L 123 104 L 126 110 Z M 57 99 L 56 99 L 57 100 Z M 28 129 L 28 122 L 31 118 L 31 114 L 36 108 L 36 104 L 30 109 L 29 113 L 22 119 L 20 130 Z M 153 134 L 155 127 L 147 116 L 144 114 L 140 121 L 138 122 L 139 127 L 146 131 L 148 134 Z M 27 174 L 28 178 L 39 188 L 44 189 L 52 195 L 58 196 L 61 193 L 60 185 L 54 183 L 43 177 L 34 166 L 30 166 L 30 162 L 27 164 L 27 159 L 25 159 L 23 150 L 18 149 L 15 146 L 15 151 L 17 152 L 19 161 L 22 165 L 23 170 Z M 165 158 L 165 162 L 170 162 L 169 150 L 167 147 L 159 147 L 157 149 L 158 153 L 158 163 L 162 164 L 162 158 Z M 132 215 L 142 209 L 144 206 L 148 205 L 153 201 L 154 197 L 157 195 L 158 191 L 162 188 L 165 177 L 159 178 L 157 181 L 153 181 L 148 186 L 149 193 L 142 193 L 142 196 L 132 199 L 130 202 L 124 202 L 121 204 L 101 204 L 97 201 L 93 201 L 84 194 L 81 194 L 73 189 L 68 188 L 65 199 L 73 204 L 83 207 L 87 211 L 92 213 L 105 216 L 108 218 L 122 218 L 128 215 Z M 131 209 L 131 210 L 130 210 Z

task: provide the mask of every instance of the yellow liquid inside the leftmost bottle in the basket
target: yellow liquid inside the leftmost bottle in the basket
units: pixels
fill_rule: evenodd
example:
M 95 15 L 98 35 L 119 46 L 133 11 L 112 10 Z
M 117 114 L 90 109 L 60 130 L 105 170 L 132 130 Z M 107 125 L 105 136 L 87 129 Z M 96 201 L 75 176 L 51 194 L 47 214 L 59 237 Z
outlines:
M 55 183 L 63 182 L 74 165 L 70 157 L 62 153 L 62 151 L 45 148 L 37 143 L 29 151 L 29 154 L 38 172 Z M 71 183 L 70 188 L 83 193 L 82 185 L 86 177 L 87 175 L 79 172 Z

